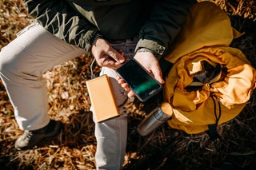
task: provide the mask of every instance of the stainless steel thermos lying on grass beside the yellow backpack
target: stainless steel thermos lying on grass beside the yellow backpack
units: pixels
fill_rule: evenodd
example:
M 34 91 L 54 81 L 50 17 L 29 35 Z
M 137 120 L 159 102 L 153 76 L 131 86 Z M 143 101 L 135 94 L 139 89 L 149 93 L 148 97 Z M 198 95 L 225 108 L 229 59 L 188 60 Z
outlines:
M 146 136 L 153 132 L 155 128 L 168 121 L 172 116 L 173 110 L 169 103 L 162 102 L 158 108 L 154 109 L 144 120 L 138 125 L 137 131 L 140 135 Z

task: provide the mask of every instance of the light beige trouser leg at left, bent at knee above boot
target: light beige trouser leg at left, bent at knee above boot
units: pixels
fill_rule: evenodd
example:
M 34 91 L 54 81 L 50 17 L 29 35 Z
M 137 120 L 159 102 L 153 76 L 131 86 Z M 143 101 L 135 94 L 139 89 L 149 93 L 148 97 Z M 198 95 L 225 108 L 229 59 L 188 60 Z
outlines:
M 0 76 L 19 128 L 34 130 L 49 123 L 42 74 L 82 53 L 86 51 L 54 37 L 36 23 L 20 31 L 18 38 L 2 48 Z

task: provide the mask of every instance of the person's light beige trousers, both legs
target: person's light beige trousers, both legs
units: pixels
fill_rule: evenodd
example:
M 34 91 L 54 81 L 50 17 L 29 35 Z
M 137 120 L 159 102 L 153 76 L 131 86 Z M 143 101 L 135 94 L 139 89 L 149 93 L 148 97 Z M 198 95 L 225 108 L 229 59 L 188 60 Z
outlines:
M 134 55 L 136 41 L 115 42 L 126 57 Z M 18 34 L 0 53 L 0 77 L 14 107 L 19 128 L 34 130 L 46 126 L 50 119 L 46 83 L 42 74 L 74 57 L 86 53 L 84 49 L 67 44 L 34 23 Z M 118 85 L 113 69 L 102 68 L 110 77 L 121 116 L 95 123 L 97 139 L 96 164 L 98 169 L 121 169 L 126 150 L 126 110 L 122 107 L 126 93 Z

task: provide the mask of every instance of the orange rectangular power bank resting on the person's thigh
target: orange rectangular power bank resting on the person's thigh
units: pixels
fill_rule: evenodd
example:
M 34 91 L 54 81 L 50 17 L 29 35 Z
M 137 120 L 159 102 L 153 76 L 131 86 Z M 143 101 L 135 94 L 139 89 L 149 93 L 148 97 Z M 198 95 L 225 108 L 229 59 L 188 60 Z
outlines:
M 97 122 L 106 121 L 119 115 L 114 101 L 110 80 L 107 75 L 86 81 L 90 102 Z

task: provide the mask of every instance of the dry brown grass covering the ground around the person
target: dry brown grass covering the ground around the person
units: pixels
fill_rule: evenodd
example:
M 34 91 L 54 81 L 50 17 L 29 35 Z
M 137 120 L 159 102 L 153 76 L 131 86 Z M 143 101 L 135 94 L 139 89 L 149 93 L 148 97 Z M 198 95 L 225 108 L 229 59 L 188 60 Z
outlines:
M 233 26 L 246 34 L 232 43 L 242 49 L 256 68 L 256 4 L 254 1 L 214 1 L 230 15 Z M 0 2 L 0 49 L 31 22 L 21 0 Z M 1 169 L 94 169 L 94 123 L 86 91 L 91 58 L 77 57 L 44 74 L 49 92 L 50 117 L 62 122 L 61 133 L 28 151 L 16 151 L 14 141 L 22 134 L 0 82 Z M 95 71 L 98 73 L 99 68 Z M 256 169 L 256 99 L 233 121 L 221 125 L 223 140 L 210 142 L 205 133 L 187 135 L 162 125 L 150 136 L 139 136 L 136 127 L 158 97 L 142 105 L 127 105 L 128 144 L 124 169 L 218 169 L 230 161 L 238 169 Z

